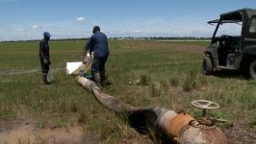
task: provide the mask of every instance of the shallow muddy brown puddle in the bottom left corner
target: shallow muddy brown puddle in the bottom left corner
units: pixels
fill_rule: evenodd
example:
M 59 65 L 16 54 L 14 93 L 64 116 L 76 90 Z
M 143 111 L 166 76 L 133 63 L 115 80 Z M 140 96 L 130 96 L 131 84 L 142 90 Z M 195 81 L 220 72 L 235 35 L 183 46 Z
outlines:
M 37 130 L 33 124 L 19 126 L 11 131 L 0 132 L 0 143 L 82 143 L 81 127 Z

